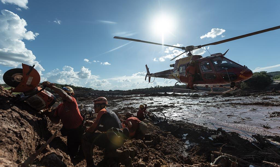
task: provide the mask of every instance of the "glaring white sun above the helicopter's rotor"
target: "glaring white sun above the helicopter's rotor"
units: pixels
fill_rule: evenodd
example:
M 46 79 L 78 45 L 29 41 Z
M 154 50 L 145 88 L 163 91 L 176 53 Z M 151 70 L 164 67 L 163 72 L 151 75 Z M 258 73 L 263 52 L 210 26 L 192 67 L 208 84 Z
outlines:
M 152 24 L 154 33 L 162 37 L 162 42 L 164 42 L 166 34 L 172 34 L 173 27 L 174 23 L 171 17 L 163 14 L 156 16 Z

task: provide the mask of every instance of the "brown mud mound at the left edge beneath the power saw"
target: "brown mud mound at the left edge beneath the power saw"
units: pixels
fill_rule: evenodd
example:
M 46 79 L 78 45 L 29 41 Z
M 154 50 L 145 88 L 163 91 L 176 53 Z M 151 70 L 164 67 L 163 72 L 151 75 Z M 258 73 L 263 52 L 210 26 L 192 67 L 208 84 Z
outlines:
M 16 101 L 16 98 L 2 87 L 0 87 L 0 122 L 0 166 L 23 163 L 52 135 L 47 129 L 48 120 L 43 115 L 25 103 Z M 60 156 L 65 162 L 66 159 L 70 162 L 66 153 L 48 147 L 34 163 L 40 163 L 41 158 L 47 156 L 45 154 L 49 154 L 48 152 Z M 49 162 L 48 165 L 56 166 L 56 163 Z

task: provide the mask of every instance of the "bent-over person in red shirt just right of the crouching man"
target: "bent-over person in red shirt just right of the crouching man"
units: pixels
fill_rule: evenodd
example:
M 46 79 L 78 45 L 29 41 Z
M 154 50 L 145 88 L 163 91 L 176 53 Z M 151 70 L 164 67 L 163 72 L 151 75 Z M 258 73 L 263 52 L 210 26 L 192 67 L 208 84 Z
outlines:
M 147 133 L 147 124 L 139 120 L 137 117 L 134 117 L 131 112 L 125 114 L 125 127 L 129 129 L 129 137 L 136 139 L 144 139 L 145 134 Z

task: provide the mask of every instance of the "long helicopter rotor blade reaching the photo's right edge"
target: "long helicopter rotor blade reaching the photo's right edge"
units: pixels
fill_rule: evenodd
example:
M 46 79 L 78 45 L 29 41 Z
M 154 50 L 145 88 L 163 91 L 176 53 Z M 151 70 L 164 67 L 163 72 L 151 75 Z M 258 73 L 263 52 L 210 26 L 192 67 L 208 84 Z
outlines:
M 199 45 L 199 46 L 194 47 L 194 49 L 198 49 L 198 48 L 205 47 L 205 46 L 208 46 L 208 45 L 217 45 L 217 44 L 220 44 L 220 43 L 225 43 L 225 42 L 228 42 L 228 41 L 233 41 L 233 40 L 237 40 L 237 39 L 240 39 L 240 38 L 245 38 L 247 36 L 252 36 L 252 35 L 256 35 L 256 34 L 260 34 L 260 33 L 265 33 L 267 31 L 272 31 L 272 30 L 276 30 L 276 29 L 279 29 L 279 28 L 280 28 L 280 25 L 276 26 L 276 27 L 256 31 L 254 33 L 249 33 L 249 34 L 245 34 L 245 35 L 241 35 L 241 36 L 236 36 L 236 37 L 229 38 L 229 39 L 226 39 L 226 40 L 221 40 L 221 41 L 218 41 L 218 42 L 208 43 L 206 45 Z

